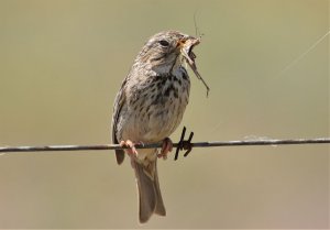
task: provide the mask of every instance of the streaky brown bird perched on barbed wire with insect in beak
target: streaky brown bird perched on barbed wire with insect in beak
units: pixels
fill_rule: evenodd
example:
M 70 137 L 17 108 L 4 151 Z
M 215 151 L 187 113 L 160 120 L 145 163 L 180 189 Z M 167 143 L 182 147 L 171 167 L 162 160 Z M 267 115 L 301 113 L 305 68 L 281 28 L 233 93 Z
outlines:
M 179 125 L 189 101 L 190 78 L 185 63 L 197 74 L 193 48 L 200 39 L 179 31 L 151 36 L 138 54 L 118 91 L 112 114 L 112 143 L 117 163 L 130 156 L 139 190 L 139 221 L 153 213 L 166 216 L 157 174 L 157 158 L 173 149 L 168 138 Z M 162 143 L 162 149 L 135 149 L 135 144 Z

